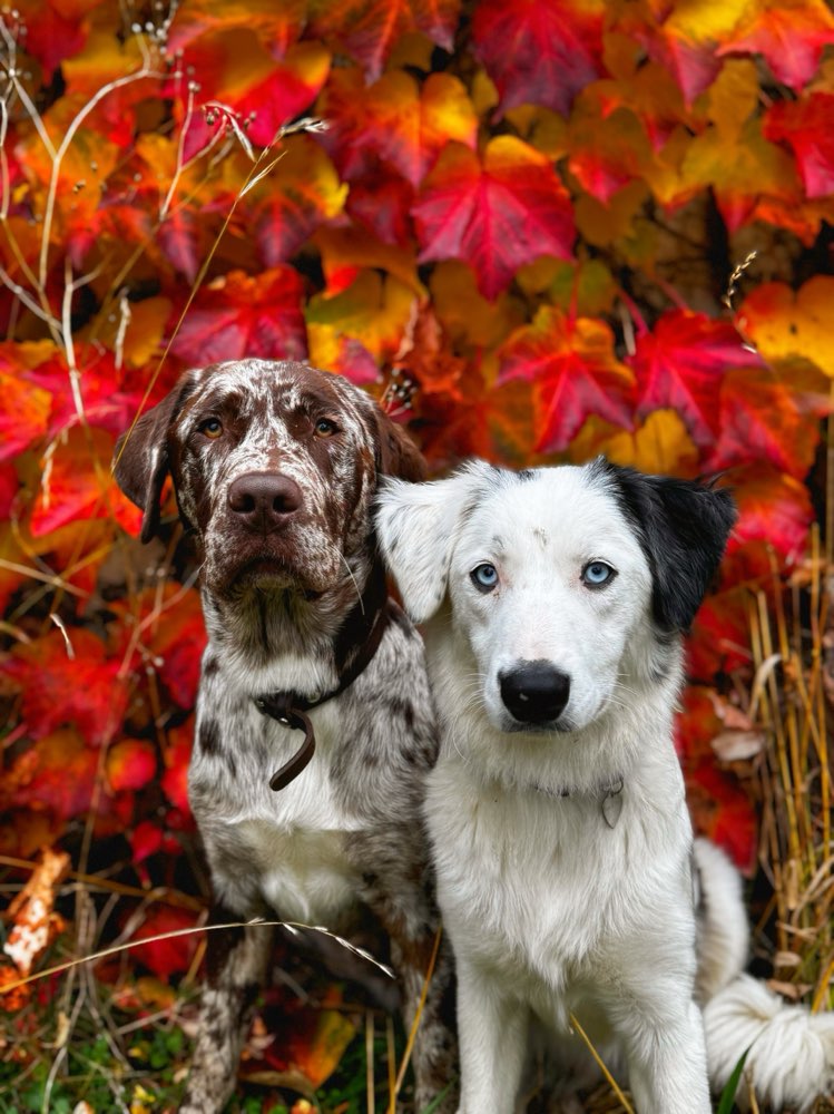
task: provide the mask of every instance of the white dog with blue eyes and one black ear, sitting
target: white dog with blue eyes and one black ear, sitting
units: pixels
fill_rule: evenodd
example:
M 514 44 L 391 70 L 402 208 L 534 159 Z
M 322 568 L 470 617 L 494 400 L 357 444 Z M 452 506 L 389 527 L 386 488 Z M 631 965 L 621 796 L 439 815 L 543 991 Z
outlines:
M 734 520 L 724 490 L 602 459 L 519 473 L 475 461 L 380 498 L 443 730 L 426 819 L 458 964 L 461 1114 L 509 1114 L 530 1018 L 569 1049 L 571 1014 L 627 1068 L 640 1114 L 707 1114 L 696 999 L 713 999 L 722 1034 L 714 1082 L 781 1016 L 740 975 L 737 876 L 710 844 L 694 859 L 671 736 L 681 632 Z M 810 1105 L 834 1027 L 788 1012 L 801 1037 L 789 1058 L 771 1040 L 764 1066 L 779 1098 Z M 745 1043 L 728 1047 L 734 1028 Z

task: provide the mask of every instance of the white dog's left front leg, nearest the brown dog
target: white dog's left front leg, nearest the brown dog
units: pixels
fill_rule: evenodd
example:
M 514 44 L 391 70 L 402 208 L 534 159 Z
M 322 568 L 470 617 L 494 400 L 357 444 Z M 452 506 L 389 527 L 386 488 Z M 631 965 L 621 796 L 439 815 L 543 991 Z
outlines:
M 511 1114 L 521 1082 L 528 1007 L 458 957 L 459 1114 Z

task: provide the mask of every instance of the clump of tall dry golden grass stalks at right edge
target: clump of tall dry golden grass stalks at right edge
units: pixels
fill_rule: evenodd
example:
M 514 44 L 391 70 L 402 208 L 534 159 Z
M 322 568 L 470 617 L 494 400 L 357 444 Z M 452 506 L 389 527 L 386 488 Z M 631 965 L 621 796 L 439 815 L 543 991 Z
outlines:
M 750 610 L 756 670 L 750 713 L 768 737 L 757 770 L 759 854 L 774 891 L 774 979 L 798 999 L 807 995 L 814 1010 L 834 1005 L 827 709 L 833 693 L 826 693 L 826 655 L 834 643 L 832 587 L 815 526 L 805 565 L 787 586 L 774 571 L 772 590 L 759 592 Z

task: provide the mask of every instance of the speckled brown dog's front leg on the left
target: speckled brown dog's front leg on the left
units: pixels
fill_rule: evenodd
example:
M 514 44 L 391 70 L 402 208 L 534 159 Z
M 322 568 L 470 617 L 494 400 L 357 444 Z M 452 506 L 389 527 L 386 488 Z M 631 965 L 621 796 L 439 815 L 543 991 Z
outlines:
M 215 906 L 208 924 L 238 920 Z M 241 1049 L 266 981 L 273 940 L 274 929 L 266 925 L 207 932 L 197 1044 L 179 1114 L 219 1114 L 235 1089 Z

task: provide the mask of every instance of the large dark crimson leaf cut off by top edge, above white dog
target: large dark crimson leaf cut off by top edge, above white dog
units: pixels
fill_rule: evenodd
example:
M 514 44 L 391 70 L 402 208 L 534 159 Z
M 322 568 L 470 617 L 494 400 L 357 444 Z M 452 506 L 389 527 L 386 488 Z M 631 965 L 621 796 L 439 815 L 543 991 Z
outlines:
M 499 113 L 541 105 L 567 116 L 601 74 L 602 10 L 582 0 L 482 0 L 472 40 L 498 88 Z

